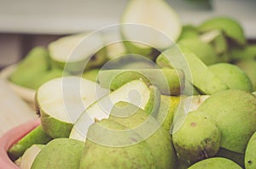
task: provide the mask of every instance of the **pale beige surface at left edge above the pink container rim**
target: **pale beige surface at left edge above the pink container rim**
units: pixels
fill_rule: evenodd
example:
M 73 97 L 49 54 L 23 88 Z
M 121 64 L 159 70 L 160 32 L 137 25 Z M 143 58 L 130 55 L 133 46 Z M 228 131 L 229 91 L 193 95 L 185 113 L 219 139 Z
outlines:
M 0 137 L 9 129 L 36 118 L 32 106 L 20 99 L 8 83 L 0 78 Z

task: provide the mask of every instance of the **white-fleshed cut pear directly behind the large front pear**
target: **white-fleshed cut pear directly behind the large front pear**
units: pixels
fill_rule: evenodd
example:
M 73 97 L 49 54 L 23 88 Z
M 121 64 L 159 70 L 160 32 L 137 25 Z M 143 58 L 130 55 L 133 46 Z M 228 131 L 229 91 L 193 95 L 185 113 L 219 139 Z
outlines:
M 85 141 L 90 125 L 95 121 L 107 119 L 114 104 L 119 101 L 135 104 L 148 114 L 154 115 L 159 108 L 160 92 L 156 87 L 148 86 L 141 80 L 125 83 L 95 104 L 90 105 L 75 122 L 69 138 Z

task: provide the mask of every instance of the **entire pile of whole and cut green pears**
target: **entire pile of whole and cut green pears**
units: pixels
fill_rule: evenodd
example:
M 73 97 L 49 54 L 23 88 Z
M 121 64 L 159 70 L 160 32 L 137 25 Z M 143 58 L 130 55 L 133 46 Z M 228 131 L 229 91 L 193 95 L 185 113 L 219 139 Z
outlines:
M 123 26 L 108 45 L 61 37 L 20 62 L 9 81 L 36 90 L 41 123 L 9 158 L 22 169 L 255 169 L 256 44 L 240 23 L 183 25 L 161 0 L 131 0 L 120 23 L 154 31 Z

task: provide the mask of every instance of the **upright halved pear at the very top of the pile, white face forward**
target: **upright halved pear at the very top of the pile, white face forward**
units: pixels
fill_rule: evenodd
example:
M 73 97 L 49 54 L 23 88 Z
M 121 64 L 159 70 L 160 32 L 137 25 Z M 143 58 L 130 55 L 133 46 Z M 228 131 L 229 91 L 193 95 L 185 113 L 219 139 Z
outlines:
M 141 52 L 172 46 L 182 31 L 176 11 L 163 0 L 131 0 L 121 24 L 125 24 L 121 32 L 129 46 Z

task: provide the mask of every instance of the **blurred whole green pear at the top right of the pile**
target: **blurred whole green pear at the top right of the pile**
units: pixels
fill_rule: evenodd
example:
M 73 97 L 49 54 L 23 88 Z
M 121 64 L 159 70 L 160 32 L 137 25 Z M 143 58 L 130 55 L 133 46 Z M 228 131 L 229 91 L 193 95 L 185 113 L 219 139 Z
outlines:
M 201 32 L 221 30 L 224 34 L 229 37 L 232 41 L 238 45 L 246 44 L 246 37 L 244 35 L 241 24 L 230 17 L 218 16 L 213 17 L 209 20 L 205 20 L 198 26 L 198 30 Z

